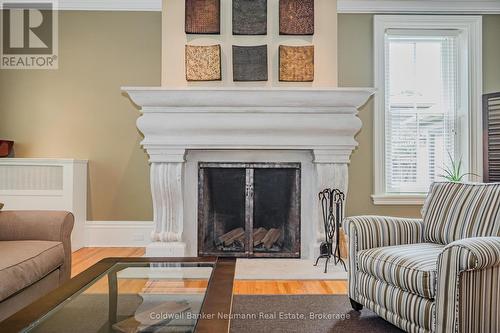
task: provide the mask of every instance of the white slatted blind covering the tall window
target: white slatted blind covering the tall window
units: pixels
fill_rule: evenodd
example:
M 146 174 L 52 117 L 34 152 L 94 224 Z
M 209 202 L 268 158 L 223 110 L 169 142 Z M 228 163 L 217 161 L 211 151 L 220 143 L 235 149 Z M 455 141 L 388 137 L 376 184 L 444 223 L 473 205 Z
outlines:
M 458 34 L 387 30 L 385 35 L 386 193 L 425 193 L 460 157 Z

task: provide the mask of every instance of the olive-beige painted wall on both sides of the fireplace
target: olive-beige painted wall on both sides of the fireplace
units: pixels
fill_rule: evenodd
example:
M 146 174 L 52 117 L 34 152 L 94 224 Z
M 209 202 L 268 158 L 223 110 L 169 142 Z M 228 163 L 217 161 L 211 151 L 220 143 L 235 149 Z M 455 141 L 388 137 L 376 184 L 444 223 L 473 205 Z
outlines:
M 500 16 L 484 16 L 484 91 L 500 91 Z M 147 155 L 123 85 L 159 85 L 161 13 L 60 13 L 57 71 L 0 71 L 0 137 L 19 157 L 89 159 L 89 220 L 151 220 Z M 338 16 L 340 86 L 373 85 L 373 15 Z M 417 206 L 374 206 L 373 101 L 352 156 L 347 213 L 419 216 Z

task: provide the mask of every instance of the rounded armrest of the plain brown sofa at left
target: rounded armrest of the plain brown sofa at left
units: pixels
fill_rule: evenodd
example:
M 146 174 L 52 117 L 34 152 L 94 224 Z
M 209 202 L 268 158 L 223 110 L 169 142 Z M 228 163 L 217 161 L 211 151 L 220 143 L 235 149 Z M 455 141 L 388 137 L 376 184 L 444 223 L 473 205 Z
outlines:
M 0 241 L 46 240 L 62 242 L 64 264 L 60 282 L 71 275 L 73 214 L 64 211 L 0 211 Z

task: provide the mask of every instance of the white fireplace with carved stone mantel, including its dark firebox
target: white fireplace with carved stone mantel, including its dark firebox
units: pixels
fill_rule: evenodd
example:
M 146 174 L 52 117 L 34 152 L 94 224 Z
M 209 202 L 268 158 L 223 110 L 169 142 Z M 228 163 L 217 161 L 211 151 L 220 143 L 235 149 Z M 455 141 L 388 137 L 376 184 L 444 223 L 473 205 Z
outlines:
M 141 108 L 137 127 L 151 163 L 154 227 L 147 256 L 317 257 L 325 239 L 317 195 L 325 188 L 347 193 L 347 166 L 361 128 L 357 109 L 373 89 L 124 90 Z M 202 186 L 200 173 L 207 178 Z M 217 179 L 234 184 L 210 192 L 225 184 L 214 185 Z M 205 202 L 202 209 L 198 201 Z M 259 228 L 266 235 L 277 229 L 267 246 L 254 245 L 264 234 Z M 225 244 L 226 237 L 233 239 Z

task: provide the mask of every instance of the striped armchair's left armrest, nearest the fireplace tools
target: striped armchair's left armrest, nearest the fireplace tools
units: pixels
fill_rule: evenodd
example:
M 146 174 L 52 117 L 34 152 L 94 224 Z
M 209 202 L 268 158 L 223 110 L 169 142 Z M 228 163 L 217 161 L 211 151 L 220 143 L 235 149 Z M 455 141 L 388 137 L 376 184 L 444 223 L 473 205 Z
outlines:
M 357 253 L 374 247 L 420 243 L 424 224 L 421 219 L 356 216 L 345 219 L 344 228 L 349 237 L 349 297 L 359 302 Z

